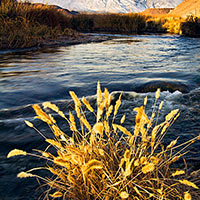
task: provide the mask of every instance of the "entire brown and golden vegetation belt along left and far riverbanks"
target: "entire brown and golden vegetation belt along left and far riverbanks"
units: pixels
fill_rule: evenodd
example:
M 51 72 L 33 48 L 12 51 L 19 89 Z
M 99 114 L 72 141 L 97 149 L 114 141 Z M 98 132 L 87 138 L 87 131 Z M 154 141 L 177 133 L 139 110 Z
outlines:
M 91 36 L 83 38 L 80 32 L 172 33 L 199 37 L 199 27 L 199 18 L 192 16 L 183 19 L 134 13 L 72 14 L 56 6 L 0 1 L 0 49 L 91 41 Z

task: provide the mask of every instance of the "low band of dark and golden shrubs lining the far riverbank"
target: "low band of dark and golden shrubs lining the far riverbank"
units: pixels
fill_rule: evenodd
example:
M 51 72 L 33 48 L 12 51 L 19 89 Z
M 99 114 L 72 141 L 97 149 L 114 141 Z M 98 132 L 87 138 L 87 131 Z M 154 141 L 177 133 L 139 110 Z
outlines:
M 199 37 L 199 26 L 197 17 L 183 18 L 162 13 L 152 16 L 132 13 L 79 14 L 69 20 L 69 27 L 79 32 L 122 34 L 171 33 Z

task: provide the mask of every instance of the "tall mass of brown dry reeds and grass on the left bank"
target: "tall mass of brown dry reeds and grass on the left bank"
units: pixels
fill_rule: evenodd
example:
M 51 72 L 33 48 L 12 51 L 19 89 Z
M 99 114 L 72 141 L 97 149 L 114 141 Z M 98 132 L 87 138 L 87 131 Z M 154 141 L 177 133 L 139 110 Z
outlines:
M 56 8 L 45 5 L 0 1 L 0 49 L 38 46 L 60 36 L 75 37 L 68 18 Z

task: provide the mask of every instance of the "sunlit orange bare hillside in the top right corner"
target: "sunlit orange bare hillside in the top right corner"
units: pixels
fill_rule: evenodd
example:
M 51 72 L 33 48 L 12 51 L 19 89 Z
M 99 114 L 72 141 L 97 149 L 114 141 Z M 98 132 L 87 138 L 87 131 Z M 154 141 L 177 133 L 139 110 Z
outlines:
M 200 17 L 200 0 L 185 0 L 171 11 L 169 15 L 182 17 L 194 15 Z

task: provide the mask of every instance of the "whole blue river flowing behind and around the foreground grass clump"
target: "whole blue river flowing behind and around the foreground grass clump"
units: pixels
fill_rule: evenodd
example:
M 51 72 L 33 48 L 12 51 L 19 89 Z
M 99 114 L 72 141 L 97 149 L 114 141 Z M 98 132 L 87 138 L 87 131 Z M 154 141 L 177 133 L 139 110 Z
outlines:
M 16 174 L 41 164 L 36 159 L 6 159 L 14 148 L 31 152 L 44 149 L 43 139 L 24 124 L 33 122 L 48 134 L 31 104 L 51 101 L 67 114 L 72 107 L 69 91 L 86 96 L 94 106 L 97 81 L 113 92 L 123 91 L 120 114 L 126 125 L 134 125 L 133 108 L 148 96 L 147 112 L 153 108 L 154 91 L 161 88 L 161 112 L 172 109 L 181 115 L 165 142 L 181 141 L 200 133 L 200 39 L 174 35 L 116 36 L 102 43 L 60 48 L 0 52 L 0 199 L 37 199 L 35 180 L 20 180 Z M 60 122 L 65 128 L 64 122 Z M 187 156 L 186 156 L 187 158 Z M 200 168 L 200 143 L 196 142 L 188 162 Z

